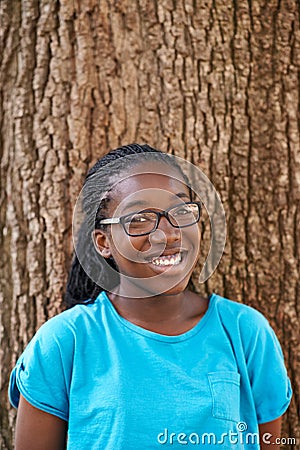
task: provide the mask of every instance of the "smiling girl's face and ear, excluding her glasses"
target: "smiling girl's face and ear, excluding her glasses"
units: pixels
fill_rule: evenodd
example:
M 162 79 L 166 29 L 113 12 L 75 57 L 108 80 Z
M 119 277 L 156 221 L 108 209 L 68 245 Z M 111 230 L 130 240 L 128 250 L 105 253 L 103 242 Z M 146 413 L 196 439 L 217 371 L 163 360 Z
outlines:
M 121 217 L 144 209 L 165 211 L 191 201 L 180 174 L 161 163 L 151 167 L 157 164 L 160 171 L 127 175 L 112 189 L 107 217 Z M 186 288 L 197 263 L 200 230 L 198 223 L 175 228 L 166 217 L 161 217 L 156 231 L 148 235 L 128 236 L 118 223 L 108 225 L 105 232 L 96 230 L 95 240 L 101 254 L 115 260 L 120 285 L 132 284 L 134 278 L 133 284 L 148 294 L 175 294 Z

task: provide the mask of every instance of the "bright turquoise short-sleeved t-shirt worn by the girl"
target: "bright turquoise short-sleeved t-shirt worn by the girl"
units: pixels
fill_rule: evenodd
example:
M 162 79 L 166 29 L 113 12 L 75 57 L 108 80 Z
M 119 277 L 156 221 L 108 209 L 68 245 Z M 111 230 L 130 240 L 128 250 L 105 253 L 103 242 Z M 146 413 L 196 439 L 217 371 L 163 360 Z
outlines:
M 122 318 L 107 294 L 46 322 L 12 371 L 11 403 L 68 421 L 71 450 L 259 449 L 291 387 L 279 342 L 253 308 L 212 294 L 166 336 Z

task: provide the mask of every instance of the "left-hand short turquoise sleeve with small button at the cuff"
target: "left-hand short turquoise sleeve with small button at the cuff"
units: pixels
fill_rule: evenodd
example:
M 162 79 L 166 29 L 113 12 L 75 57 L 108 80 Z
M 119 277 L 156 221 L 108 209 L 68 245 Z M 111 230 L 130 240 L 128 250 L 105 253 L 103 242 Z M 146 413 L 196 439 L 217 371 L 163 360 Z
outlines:
M 8 394 L 15 408 L 22 394 L 32 406 L 68 420 L 72 343 L 54 319 L 38 330 L 18 359 Z

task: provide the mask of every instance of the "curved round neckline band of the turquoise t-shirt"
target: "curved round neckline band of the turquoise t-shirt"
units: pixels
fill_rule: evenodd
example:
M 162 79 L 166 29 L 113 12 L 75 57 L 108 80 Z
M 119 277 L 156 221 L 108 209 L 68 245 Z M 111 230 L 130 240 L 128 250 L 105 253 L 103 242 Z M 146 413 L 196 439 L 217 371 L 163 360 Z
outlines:
M 212 314 L 212 311 L 214 309 L 216 295 L 214 293 L 210 295 L 206 312 L 201 317 L 201 319 L 196 323 L 196 325 L 193 326 L 193 328 L 186 331 L 185 333 L 181 333 L 181 334 L 177 334 L 177 335 L 173 335 L 173 336 L 146 330 L 145 328 L 140 327 L 139 325 L 136 325 L 136 324 L 130 322 L 129 320 L 125 319 L 124 317 L 120 316 L 120 314 L 117 312 L 117 310 L 113 306 L 112 302 L 110 301 L 110 299 L 105 291 L 102 291 L 98 298 L 103 300 L 104 303 L 108 306 L 108 308 L 109 308 L 110 312 L 113 314 L 113 316 L 119 322 L 121 322 L 121 324 L 123 326 L 130 329 L 131 331 L 138 333 L 140 335 L 143 335 L 147 338 L 154 339 L 156 341 L 176 343 L 176 342 L 182 342 L 182 341 L 192 338 L 206 326 L 206 324 Z

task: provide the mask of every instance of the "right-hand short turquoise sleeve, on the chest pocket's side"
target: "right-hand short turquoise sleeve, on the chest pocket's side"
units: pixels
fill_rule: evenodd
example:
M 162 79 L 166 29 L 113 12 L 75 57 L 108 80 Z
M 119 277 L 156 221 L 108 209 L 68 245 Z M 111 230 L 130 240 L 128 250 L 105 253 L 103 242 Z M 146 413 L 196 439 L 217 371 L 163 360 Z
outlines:
M 286 411 L 292 389 L 280 343 L 265 317 L 257 311 L 255 313 L 252 332 L 247 339 L 246 362 L 257 421 L 265 423 L 277 419 Z

